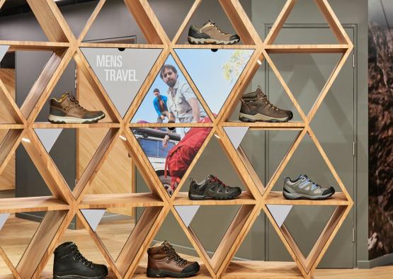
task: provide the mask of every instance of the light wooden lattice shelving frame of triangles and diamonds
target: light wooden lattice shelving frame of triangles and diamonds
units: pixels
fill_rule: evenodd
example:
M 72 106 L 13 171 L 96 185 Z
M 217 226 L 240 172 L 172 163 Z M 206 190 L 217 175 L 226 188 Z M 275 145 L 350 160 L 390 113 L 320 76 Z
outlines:
M 6 0 L 0 0 L 0 8 Z M 246 16 L 244 9 L 241 7 L 239 0 L 218 0 L 227 14 L 229 20 L 234 26 L 237 33 L 240 35 L 241 40 L 245 45 L 178 45 L 176 44 L 178 38 L 180 38 L 183 30 L 188 25 L 191 16 L 198 8 L 202 0 L 195 0 L 195 3 L 190 8 L 188 15 L 181 24 L 178 32 L 171 41 L 166 35 L 164 28 L 162 28 L 158 19 L 154 15 L 152 8 L 149 6 L 147 0 L 125 0 L 127 8 L 135 18 L 137 25 L 147 39 L 148 44 L 146 45 L 128 45 L 128 44 L 113 44 L 113 43 L 85 43 L 82 42 L 86 33 L 89 31 L 93 21 L 101 11 L 103 4 L 106 0 L 100 0 L 93 11 L 89 21 L 82 30 L 79 38 L 75 38 L 72 34 L 69 25 L 64 20 L 62 13 L 53 0 L 27 0 L 30 8 L 32 9 L 35 17 L 41 25 L 45 35 L 47 35 L 48 42 L 28 42 L 28 41 L 0 41 L 0 45 L 9 45 L 10 50 L 51 50 L 53 52 L 50 60 L 42 70 L 38 80 L 33 85 L 28 97 L 26 98 L 21 109 L 16 106 L 16 103 L 10 97 L 4 84 L 0 80 L 0 94 L 5 98 L 6 104 L 9 107 L 9 113 L 13 116 L 15 123 L 0 124 L 0 130 L 8 130 L 6 137 L 0 144 L 0 173 L 4 170 L 6 164 L 11 159 L 12 154 L 15 152 L 19 144 L 23 144 L 28 154 L 48 188 L 52 192 L 52 197 L 38 197 L 38 198 L 9 198 L 0 200 L 0 213 L 5 212 L 26 212 L 26 211 L 47 211 L 44 220 L 38 227 L 38 231 L 35 233 L 33 239 L 30 241 L 28 248 L 23 254 L 21 261 L 18 266 L 14 267 L 11 261 L 8 260 L 4 251 L 0 249 L 0 256 L 6 262 L 8 268 L 11 270 L 16 278 L 38 278 L 42 270 L 45 268 L 50 255 L 57 245 L 57 241 L 62 237 L 65 230 L 67 229 L 69 222 L 72 218 L 77 215 L 81 219 L 82 223 L 89 230 L 91 238 L 96 242 L 98 248 L 103 254 L 106 261 L 113 271 L 113 274 L 117 278 L 131 278 L 135 273 L 139 261 L 146 252 L 149 244 L 152 242 L 156 232 L 158 231 L 161 224 L 164 222 L 166 215 L 171 211 L 178 220 L 179 224 L 183 228 L 191 244 L 195 247 L 201 260 L 205 264 L 205 268 L 208 271 L 207 275 L 212 278 L 220 278 L 223 275 L 235 275 L 236 268 L 230 266 L 234 254 L 239 249 L 242 241 L 246 237 L 246 234 L 251 229 L 252 224 L 256 220 L 259 212 L 263 210 L 268 216 L 268 219 L 273 224 L 276 232 L 280 239 L 282 239 L 285 247 L 290 252 L 293 260 L 300 269 L 300 274 L 304 278 L 312 277 L 312 273 L 321 257 L 326 252 L 329 244 L 334 238 L 338 228 L 345 220 L 348 212 L 353 206 L 353 200 L 343 186 L 338 174 L 334 170 L 328 156 L 326 156 L 324 150 L 319 144 L 317 137 L 315 137 L 309 123 L 314 117 L 315 113 L 321 102 L 324 100 L 326 93 L 331 88 L 338 72 L 340 72 L 343 64 L 346 62 L 348 55 L 350 55 L 353 44 L 348 38 L 348 35 L 343 30 L 341 24 L 338 22 L 334 12 L 332 11 L 329 3 L 326 0 L 314 0 L 317 4 L 322 15 L 326 19 L 327 23 L 334 35 L 336 36 L 339 44 L 338 45 L 273 45 L 275 38 L 283 28 L 283 23 L 290 14 L 293 6 L 297 0 L 287 0 L 283 10 L 275 21 L 273 28 L 270 30 L 268 37 L 263 42 L 256 32 L 251 21 Z M 125 114 L 124 118 L 121 118 L 118 111 L 116 110 L 113 103 L 110 101 L 105 89 L 98 81 L 96 74 L 89 66 L 84 55 L 79 50 L 79 47 L 129 47 L 129 48 L 160 48 L 162 49 L 161 55 L 156 60 L 156 63 L 152 67 L 147 79 L 142 84 L 135 100 L 130 106 L 129 110 Z M 237 84 L 235 84 L 232 91 L 229 93 L 227 102 L 224 103 L 220 114 L 215 117 L 208 108 L 207 104 L 203 100 L 200 92 L 198 91 L 192 79 L 184 69 L 181 60 L 176 55 L 174 49 L 176 48 L 227 48 L 227 49 L 253 49 L 254 53 L 246 65 L 244 72 L 239 77 Z M 341 53 L 341 59 L 334 68 L 331 76 L 326 82 L 324 88 L 319 94 L 317 101 L 314 106 L 306 115 L 302 108 L 300 108 L 292 92 L 288 88 L 287 84 L 283 80 L 283 77 L 278 72 L 275 64 L 270 59 L 270 53 Z M 180 67 L 181 71 L 185 75 L 188 83 L 200 99 L 201 104 L 205 108 L 207 114 L 213 120 L 212 123 L 188 123 L 182 125 L 179 123 L 173 124 L 149 124 L 149 123 L 130 123 L 132 116 L 136 113 L 140 103 L 142 103 L 149 86 L 153 83 L 156 74 L 159 73 L 159 69 L 164 64 L 166 57 L 172 55 L 176 63 Z M 89 84 L 97 94 L 101 103 L 108 111 L 109 118 L 113 121 L 110 123 L 94 123 L 89 125 L 76 125 L 76 124 L 62 124 L 55 125 L 50 123 L 36 123 L 35 118 L 40 112 L 47 98 L 49 98 L 52 89 L 55 88 L 57 81 L 66 69 L 67 65 L 74 59 L 79 69 L 84 72 Z M 251 82 L 254 74 L 258 70 L 259 65 L 266 59 L 273 72 L 278 77 L 278 80 L 282 84 L 285 92 L 289 96 L 295 108 L 300 113 L 302 118 L 301 122 L 292 123 L 239 123 L 239 122 L 227 122 L 227 119 L 232 114 L 234 108 L 237 106 L 241 94 Z M 184 181 L 181 181 L 176 191 L 171 197 L 166 195 L 166 191 L 161 186 L 156 176 L 154 169 L 149 164 L 147 157 L 139 147 L 137 139 L 132 135 L 130 130 L 131 127 L 212 127 L 209 137 L 203 147 L 201 147 L 195 160 L 190 165 L 190 169 L 186 173 L 185 177 L 188 176 L 196 161 L 205 149 L 207 142 L 215 135 L 220 139 L 220 143 L 224 152 L 227 154 L 229 161 L 231 161 L 234 169 L 239 174 L 241 181 L 246 185 L 247 190 L 242 193 L 241 198 L 237 200 L 229 201 L 193 201 L 188 200 L 187 194 L 180 192 Z M 96 154 L 93 155 L 89 165 L 86 167 L 81 176 L 79 182 L 73 191 L 69 190 L 67 183 L 65 182 L 62 174 L 59 173 L 57 166 L 50 158 L 49 154 L 45 151 L 42 146 L 40 139 L 34 132 L 34 128 L 109 128 L 106 137 L 98 147 Z M 234 149 L 227 134 L 224 132 L 224 127 L 249 127 L 250 129 L 258 130 L 299 130 L 299 135 L 292 143 L 290 149 L 287 150 L 283 161 L 278 166 L 278 169 L 273 174 L 272 178 L 268 182 L 267 186 L 263 186 L 260 179 L 258 178 L 256 171 L 251 166 L 250 161 L 246 158 L 244 151 L 239 147 Z M 331 173 L 336 178 L 338 186 L 340 186 L 342 192 L 336 193 L 333 198 L 322 201 L 304 201 L 304 200 L 285 200 L 280 193 L 271 191 L 278 177 L 281 175 L 288 161 L 290 160 L 295 149 L 300 144 L 300 141 L 304 135 L 309 134 L 312 141 L 316 145 L 317 149 L 321 153 L 324 161 L 329 167 Z M 125 144 L 127 151 L 135 159 L 135 164 L 142 174 L 144 180 L 147 182 L 147 186 L 152 193 L 131 193 L 131 194 L 115 194 L 115 195 L 85 195 L 86 188 L 89 187 L 93 181 L 96 173 L 99 171 L 103 161 L 108 156 L 110 149 L 113 147 L 119 137 L 122 137 L 122 142 Z M 30 139 L 30 142 L 22 141 L 23 138 Z M 126 140 L 124 140 L 126 139 Z M 312 249 L 312 252 L 307 258 L 304 258 L 297 244 L 292 239 L 290 232 L 287 230 L 285 225 L 278 227 L 275 224 L 273 216 L 270 214 L 266 205 L 337 205 L 331 219 L 321 236 L 317 240 L 317 243 Z M 175 209 L 175 205 L 241 205 L 239 212 L 232 224 L 229 226 L 226 234 L 222 238 L 222 241 L 215 252 L 215 255 L 210 259 L 207 256 L 207 252 L 203 249 L 202 244 L 196 237 L 190 227 L 186 227 L 181 217 L 178 215 Z M 101 240 L 98 238 L 95 232 L 90 229 L 89 224 L 81 214 L 80 209 L 89 208 L 107 208 L 107 207 L 146 207 L 142 217 L 140 218 L 137 226 L 132 232 L 131 237 L 127 240 L 123 250 L 120 252 L 120 256 L 116 261 L 108 254 L 105 246 L 103 246 Z M 256 263 L 254 266 L 263 268 L 263 263 Z M 256 270 L 261 270 L 256 268 Z M 258 276 L 263 278 L 263 273 Z

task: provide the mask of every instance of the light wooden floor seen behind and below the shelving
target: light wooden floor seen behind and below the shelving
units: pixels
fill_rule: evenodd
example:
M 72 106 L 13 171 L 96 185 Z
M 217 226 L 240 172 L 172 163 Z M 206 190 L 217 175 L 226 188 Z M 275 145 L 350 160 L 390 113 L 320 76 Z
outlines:
M 115 220 L 101 223 L 102 224 L 98 226 L 97 233 L 100 235 L 101 239 L 103 239 L 103 242 L 106 244 L 106 248 L 110 251 L 113 258 L 116 258 L 134 225 L 130 222 L 130 220 Z M 11 216 L 8 218 L 6 224 L 1 230 L 0 246 L 4 249 L 15 266 L 21 258 L 25 247 L 28 245 L 28 242 L 37 227 L 37 222 L 21 220 Z M 115 236 L 113 235 L 113 232 L 116 232 Z M 106 263 L 85 229 L 67 230 L 62 241 L 75 241 L 79 246 L 81 253 L 84 254 L 86 258 L 96 263 Z M 193 259 L 190 256 L 186 256 L 186 258 L 190 260 Z M 198 260 L 198 258 L 195 260 Z M 50 259 L 41 278 L 52 278 L 52 263 L 53 258 Z M 135 278 L 145 278 L 144 272 L 146 266 L 147 259 L 144 258 L 135 273 Z M 228 271 L 229 273 L 226 273 L 224 278 L 302 278 L 300 272 L 295 266 L 295 263 L 258 263 L 237 261 L 229 266 Z M 237 271 L 237 273 L 230 273 L 230 271 Z M 210 278 L 204 266 L 202 266 L 197 277 Z M 3 261 L 0 263 L 0 278 L 13 278 Z M 108 279 L 109 278 L 115 277 L 113 275 L 109 275 Z M 393 278 L 393 266 L 373 268 L 372 270 L 318 269 L 315 273 L 315 278 L 388 279 Z

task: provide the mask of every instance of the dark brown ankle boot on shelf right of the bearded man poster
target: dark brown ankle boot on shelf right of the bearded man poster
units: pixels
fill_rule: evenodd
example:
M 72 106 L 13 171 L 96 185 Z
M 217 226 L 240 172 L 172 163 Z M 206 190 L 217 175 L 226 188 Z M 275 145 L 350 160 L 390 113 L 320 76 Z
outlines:
M 273 106 L 260 86 L 255 92 L 244 94 L 240 101 L 239 120 L 243 122 L 287 122 L 293 117 L 292 111 Z

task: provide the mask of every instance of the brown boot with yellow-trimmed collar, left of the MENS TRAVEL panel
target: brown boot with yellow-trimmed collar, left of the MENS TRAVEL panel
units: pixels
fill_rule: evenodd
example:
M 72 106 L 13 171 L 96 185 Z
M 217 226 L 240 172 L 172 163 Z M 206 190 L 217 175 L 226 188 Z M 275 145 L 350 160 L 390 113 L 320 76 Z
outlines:
M 89 111 L 79 105 L 71 93 L 64 93 L 59 100 L 50 99 L 50 113 L 48 120 L 50 123 L 95 123 L 105 117 L 105 113 L 99 111 Z

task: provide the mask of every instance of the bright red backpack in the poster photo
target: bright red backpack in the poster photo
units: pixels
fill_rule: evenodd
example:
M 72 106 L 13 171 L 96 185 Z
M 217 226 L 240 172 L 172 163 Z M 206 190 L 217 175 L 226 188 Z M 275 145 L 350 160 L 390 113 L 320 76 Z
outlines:
M 212 121 L 207 117 L 199 123 L 212 123 Z M 166 177 L 166 170 L 168 170 L 171 175 L 172 190 L 176 189 L 176 183 L 181 181 L 211 130 L 211 127 L 192 127 L 183 139 L 169 150 L 168 156 L 166 156 L 164 175 Z

